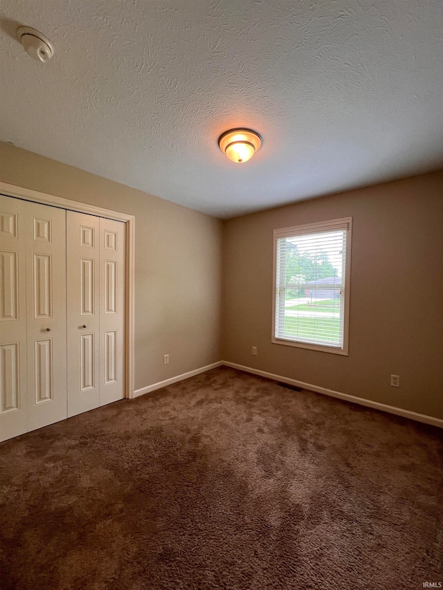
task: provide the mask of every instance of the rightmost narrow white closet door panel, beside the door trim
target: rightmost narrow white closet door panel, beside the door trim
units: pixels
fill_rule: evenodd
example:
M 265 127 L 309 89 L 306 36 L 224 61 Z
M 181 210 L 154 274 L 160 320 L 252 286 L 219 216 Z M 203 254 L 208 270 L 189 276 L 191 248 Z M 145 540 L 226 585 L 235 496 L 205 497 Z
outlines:
M 125 230 L 100 218 L 100 405 L 125 397 Z

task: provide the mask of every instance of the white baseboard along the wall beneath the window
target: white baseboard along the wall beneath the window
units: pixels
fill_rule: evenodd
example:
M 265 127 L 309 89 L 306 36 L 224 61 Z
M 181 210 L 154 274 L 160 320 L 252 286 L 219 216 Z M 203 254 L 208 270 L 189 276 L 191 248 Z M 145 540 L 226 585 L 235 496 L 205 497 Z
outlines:
M 401 407 L 386 405 L 384 403 L 366 400 L 365 398 L 357 398 L 356 396 L 350 396 L 349 394 L 342 394 L 341 391 L 325 389 L 325 387 L 318 387 L 318 385 L 312 385 L 311 383 L 305 383 L 303 381 L 298 381 L 296 379 L 289 379 L 288 377 L 282 377 L 281 375 L 275 375 L 273 373 L 268 373 L 267 371 L 260 371 L 259 369 L 253 369 L 252 367 L 244 367 L 244 365 L 237 365 L 235 362 L 228 362 L 224 360 L 219 362 L 218 365 L 226 365 L 226 367 L 233 367 L 233 369 L 239 369 L 239 371 L 245 371 L 246 373 L 260 375 L 262 377 L 273 379 L 275 381 L 282 381 L 284 383 L 289 383 L 289 385 L 296 385 L 297 387 L 302 387 L 302 389 L 310 389 L 311 391 L 316 391 L 318 394 L 325 394 L 333 398 L 338 398 L 348 402 L 365 405 L 366 407 L 381 409 L 383 412 L 388 412 L 389 414 L 403 416 L 404 418 L 410 418 L 411 420 L 416 420 L 417 422 L 424 422 L 425 424 L 431 424 L 433 426 L 443 428 L 443 420 L 441 418 L 426 416 L 426 414 L 417 414 L 417 412 L 411 412 L 409 409 L 402 409 Z

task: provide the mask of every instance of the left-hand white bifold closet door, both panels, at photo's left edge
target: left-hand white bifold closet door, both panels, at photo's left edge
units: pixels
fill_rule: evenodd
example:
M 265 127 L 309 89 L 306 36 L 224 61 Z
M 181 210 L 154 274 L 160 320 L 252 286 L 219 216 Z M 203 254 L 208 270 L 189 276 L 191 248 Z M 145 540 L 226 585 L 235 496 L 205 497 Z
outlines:
M 66 418 L 66 211 L 0 198 L 0 440 L 6 440 Z

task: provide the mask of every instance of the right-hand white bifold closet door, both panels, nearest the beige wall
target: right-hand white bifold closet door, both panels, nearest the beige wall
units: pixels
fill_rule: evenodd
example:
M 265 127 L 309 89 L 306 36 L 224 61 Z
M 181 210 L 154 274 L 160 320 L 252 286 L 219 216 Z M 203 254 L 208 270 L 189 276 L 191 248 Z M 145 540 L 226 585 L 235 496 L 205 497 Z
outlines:
M 66 212 L 68 416 L 125 397 L 125 223 Z

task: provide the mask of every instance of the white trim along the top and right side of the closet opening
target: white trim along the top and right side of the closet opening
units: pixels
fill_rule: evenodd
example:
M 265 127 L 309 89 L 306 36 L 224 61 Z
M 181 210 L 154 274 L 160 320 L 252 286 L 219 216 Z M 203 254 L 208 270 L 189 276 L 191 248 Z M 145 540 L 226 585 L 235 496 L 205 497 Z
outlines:
M 15 196 L 24 201 L 42 203 L 66 209 L 78 211 L 115 221 L 126 223 L 126 305 L 125 305 L 125 339 L 126 339 L 126 362 L 125 362 L 125 398 L 134 398 L 134 265 L 135 265 L 135 217 L 120 211 L 96 207 L 79 201 L 64 199 L 62 196 L 46 194 L 37 190 L 31 190 L 16 185 L 0 182 L 0 192 L 6 196 Z

